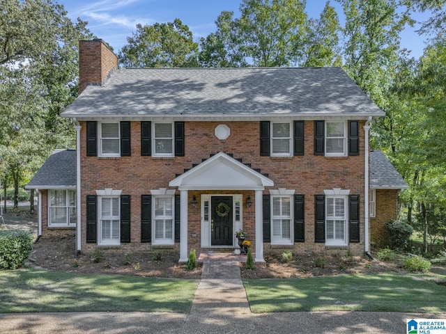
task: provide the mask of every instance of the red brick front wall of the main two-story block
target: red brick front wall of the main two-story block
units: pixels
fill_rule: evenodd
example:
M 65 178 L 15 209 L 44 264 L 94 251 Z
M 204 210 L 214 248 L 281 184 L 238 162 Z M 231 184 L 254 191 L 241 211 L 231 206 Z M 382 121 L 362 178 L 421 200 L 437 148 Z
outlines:
M 215 127 L 226 124 L 231 135 L 219 140 Z M 350 189 L 351 194 L 361 198 L 360 244 L 351 244 L 355 253 L 364 250 L 364 132 L 360 133 L 360 155 L 357 157 L 321 157 L 314 155 L 314 122 L 305 122 L 305 156 L 273 158 L 259 154 L 259 122 L 185 122 L 185 157 L 155 158 L 141 157 L 140 122 L 131 122 L 132 156 L 119 158 L 86 157 L 86 124 L 81 123 L 81 177 L 82 177 L 82 249 L 93 249 L 94 244 L 85 243 L 86 235 L 86 195 L 95 195 L 95 190 L 112 188 L 122 190 L 123 195 L 131 196 L 131 241 L 135 247 L 147 248 L 150 244 L 140 244 L 141 195 L 150 194 L 151 189 L 168 188 L 169 181 L 184 168 L 192 168 L 211 153 L 232 153 L 234 158 L 243 158 L 243 163 L 252 168 L 261 168 L 268 173 L 275 186 L 271 189 L 295 189 L 296 194 L 305 194 L 305 243 L 296 243 L 295 250 L 330 251 L 324 244 L 314 243 L 314 195 L 323 194 L 324 189 Z M 364 122 L 360 122 L 362 129 Z M 190 191 L 197 197 L 197 209 L 189 206 L 188 248 L 200 250 L 200 195 L 206 191 Z M 211 193 L 223 193 L 212 191 Z M 254 242 L 255 205 L 254 191 L 227 191 L 243 193 L 243 229 L 247 230 Z M 269 189 L 264 191 L 269 193 Z M 253 200 L 250 208 L 245 206 L 245 196 Z M 190 237 L 190 233 L 197 237 Z M 255 245 L 253 245 L 255 247 Z M 128 245 L 125 245 L 128 247 Z

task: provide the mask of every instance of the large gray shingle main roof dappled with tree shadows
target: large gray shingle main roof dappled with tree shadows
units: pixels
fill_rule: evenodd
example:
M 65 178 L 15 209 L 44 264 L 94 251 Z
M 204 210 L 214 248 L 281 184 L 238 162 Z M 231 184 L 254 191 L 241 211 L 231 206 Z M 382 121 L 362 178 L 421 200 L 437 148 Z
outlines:
M 123 68 L 65 117 L 383 116 L 340 67 Z

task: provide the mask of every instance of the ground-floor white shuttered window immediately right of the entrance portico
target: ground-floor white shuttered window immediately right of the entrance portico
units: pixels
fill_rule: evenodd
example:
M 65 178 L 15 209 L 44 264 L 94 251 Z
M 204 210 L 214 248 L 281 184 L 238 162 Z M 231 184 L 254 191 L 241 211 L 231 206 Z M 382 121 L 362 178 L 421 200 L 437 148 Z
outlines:
M 272 197 L 271 244 L 292 244 L 291 197 Z

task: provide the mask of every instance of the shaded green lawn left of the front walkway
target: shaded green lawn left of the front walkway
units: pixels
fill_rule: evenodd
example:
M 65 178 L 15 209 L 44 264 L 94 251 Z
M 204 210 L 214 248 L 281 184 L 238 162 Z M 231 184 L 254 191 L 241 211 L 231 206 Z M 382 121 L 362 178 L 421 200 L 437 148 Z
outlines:
M 189 312 L 198 282 L 36 269 L 0 271 L 0 312 Z

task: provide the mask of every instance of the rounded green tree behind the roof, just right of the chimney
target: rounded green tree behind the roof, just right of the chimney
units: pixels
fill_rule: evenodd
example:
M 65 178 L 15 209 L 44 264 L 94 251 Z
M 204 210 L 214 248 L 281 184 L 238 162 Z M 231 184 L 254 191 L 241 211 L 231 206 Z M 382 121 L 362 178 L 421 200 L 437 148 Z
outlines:
M 198 43 L 180 19 L 153 25 L 137 24 L 137 31 L 127 42 L 118 55 L 120 63 L 126 67 L 198 65 Z

